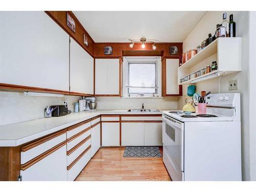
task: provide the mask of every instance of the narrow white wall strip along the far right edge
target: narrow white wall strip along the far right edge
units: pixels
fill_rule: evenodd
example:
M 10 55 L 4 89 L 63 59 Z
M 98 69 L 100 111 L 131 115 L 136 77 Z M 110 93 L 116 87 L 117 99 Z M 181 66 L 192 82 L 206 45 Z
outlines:
M 250 40 L 249 40 L 249 118 L 250 118 L 250 179 L 256 181 L 256 125 L 255 125 L 255 95 L 256 95 L 256 11 L 250 12 Z

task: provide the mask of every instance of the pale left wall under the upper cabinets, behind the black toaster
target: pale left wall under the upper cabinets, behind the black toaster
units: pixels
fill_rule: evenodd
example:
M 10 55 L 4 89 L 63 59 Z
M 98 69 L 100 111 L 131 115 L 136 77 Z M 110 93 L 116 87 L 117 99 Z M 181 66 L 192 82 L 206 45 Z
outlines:
M 79 97 L 68 96 L 69 110 Z M 61 97 L 24 96 L 23 93 L 0 92 L 0 125 L 44 118 L 47 105 L 62 104 Z

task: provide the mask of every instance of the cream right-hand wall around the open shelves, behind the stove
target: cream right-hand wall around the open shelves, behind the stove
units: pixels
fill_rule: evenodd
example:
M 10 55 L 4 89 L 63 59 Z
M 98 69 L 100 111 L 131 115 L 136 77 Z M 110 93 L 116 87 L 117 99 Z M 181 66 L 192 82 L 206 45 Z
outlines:
M 208 12 L 201 22 L 194 28 L 183 42 L 183 52 L 190 49 L 196 49 L 201 42 L 208 37 L 208 33 L 214 34 L 216 25 L 222 23 L 222 13 L 211 11 Z M 242 37 L 242 71 L 237 74 L 230 74 L 221 78 L 221 93 L 228 91 L 228 81 L 238 79 L 238 90 L 233 92 L 241 93 L 241 120 L 242 120 L 242 179 L 250 179 L 250 150 L 249 150 L 249 92 L 248 92 L 248 49 L 249 49 L 249 12 L 227 12 L 227 15 L 233 14 L 236 22 L 236 35 Z M 219 92 L 219 79 L 211 79 L 196 83 L 197 92 L 211 91 Z M 185 104 L 187 86 L 183 86 L 183 96 L 178 98 L 178 108 L 182 109 Z

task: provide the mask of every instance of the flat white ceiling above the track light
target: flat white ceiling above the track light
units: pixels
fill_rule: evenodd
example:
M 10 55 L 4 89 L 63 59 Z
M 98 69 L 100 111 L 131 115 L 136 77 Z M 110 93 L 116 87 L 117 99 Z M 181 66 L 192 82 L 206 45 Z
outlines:
M 95 42 L 183 42 L 206 11 L 73 11 Z

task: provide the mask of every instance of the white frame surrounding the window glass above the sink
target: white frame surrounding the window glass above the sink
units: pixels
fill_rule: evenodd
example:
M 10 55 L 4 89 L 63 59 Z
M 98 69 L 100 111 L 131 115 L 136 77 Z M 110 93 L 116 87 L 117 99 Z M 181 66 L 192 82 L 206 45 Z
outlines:
M 128 94 L 128 63 L 129 62 L 156 62 L 157 65 L 157 94 Z M 124 57 L 123 58 L 123 98 L 159 98 L 162 97 L 162 61 L 159 56 Z

